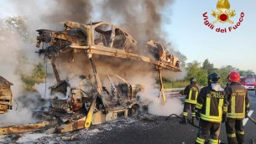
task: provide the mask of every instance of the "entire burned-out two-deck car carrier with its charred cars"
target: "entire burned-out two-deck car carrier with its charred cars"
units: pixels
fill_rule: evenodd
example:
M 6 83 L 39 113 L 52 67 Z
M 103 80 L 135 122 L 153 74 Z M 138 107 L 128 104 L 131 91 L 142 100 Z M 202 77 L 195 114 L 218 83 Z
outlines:
M 97 125 L 105 121 L 116 120 L 120 112 L 123 112 L 125 117 L 136 116 L 139 107 L 149 104 L 149 101 L 143 101 L 138 96 L 138 92 L 144 90 L 143 85 L 131 85 L 116 74 L 99 74 L 95 63 L 98 55 L 137 60 L 154 65 L 154 69 L 159 72 L 160 90 L 165 102 L 160 69 L 180 71 L 180 67 L 176 64 L 178 60 L 167 49 L 159 47 L 157 42 L 153 44 L 149 42 L 146 47 L 141 49 L 130 34 L 112 23 L 81 24 L 68 21 L 64 23 L 64 26 L 65 29 L 62 31 L 37 30 L 39 36 L 36 46 L 41 48 L 37 53 L 44 54 L 50 59 L 57 81 L 56 85 L 50 87 L 51 94 L 67 95 L 66 100 L 59 100 L 58 97 L 51 99 L 52 107 L 72 112 L 85 109 L 86 116 L 61 126 L 58 131 L 73 131 L 89 127 L 91 124 Z M 158 54 L 159 57 L 152 52 L 151 55 L 145 54 L 144 51 L 149 51 L 149 49 L 152 49 L 153 53 L 156 50 L 157 53 L 162 54 Z M 85 70 L 91 70 L 93 74 L 91 77 L 89 76 L 90 78 L 84 77 L 78 85 L 70 85 L 67 80 L 60 79 L 61 70 L 58 69 L 58 63 L 55 63 L 60 59 L 73 61 L 75 54 L 84 54 L 88 64 L 91 65 L 91 68 Z M 101 75 L 105 75 L 105 77 Z M 118 79 L 119 82 L 115 82 L 112 77 Z M 91 80 L 92 78 L 93 80 Z M 109 82 L 108 85 L 106 85 L 106 81 Z M 68 90 L 68 87 L 71 89 Z

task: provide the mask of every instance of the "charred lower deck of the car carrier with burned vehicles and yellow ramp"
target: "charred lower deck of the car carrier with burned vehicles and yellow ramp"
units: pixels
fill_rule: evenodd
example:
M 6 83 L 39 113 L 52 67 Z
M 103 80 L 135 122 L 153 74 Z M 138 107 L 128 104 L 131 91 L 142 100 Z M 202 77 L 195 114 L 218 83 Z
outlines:
M 101 93 L 95 91 L 91 80 L 85 78 L 78 85 L 71 87 L 68 100 L 53 100 L 55 108 L 64 108 L 66 111 L 84 111 L 86 116 L 79 120 L 71 121 L 55 129 L 59 132 L 78 130 L 107 121 L 115 121 L 118 116 L 137 116 L 142 108 L 147 108 L 149 100 L 142 100 L 138 95 L 144 91 L 144 85 L 131 85 L 118 75 L 99 75 L 103 80 Z M 65 106 L 66 105 L 66 106 Z

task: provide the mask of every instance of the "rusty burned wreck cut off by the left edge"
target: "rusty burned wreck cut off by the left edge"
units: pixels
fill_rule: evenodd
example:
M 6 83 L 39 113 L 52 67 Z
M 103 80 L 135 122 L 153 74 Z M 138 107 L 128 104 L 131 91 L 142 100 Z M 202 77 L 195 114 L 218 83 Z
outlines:
M 0 76 L 0 114 L 12 110 L 13 94 L 11 85 L 13 85 L 11 82 Z

